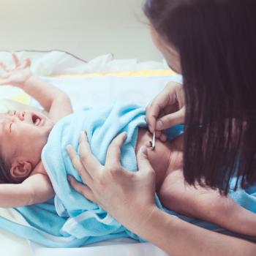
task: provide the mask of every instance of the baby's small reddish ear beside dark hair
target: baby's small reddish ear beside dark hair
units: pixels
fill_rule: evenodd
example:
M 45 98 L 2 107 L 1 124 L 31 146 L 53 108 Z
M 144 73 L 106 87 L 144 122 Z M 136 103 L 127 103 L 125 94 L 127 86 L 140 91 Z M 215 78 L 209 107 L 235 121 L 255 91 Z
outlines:
M 32 165 L 29 161 L 15 159 L 11 165 L 10 175 L 15 179 L 15 181 L 23 181 L 23 178 L 29 176 L 31 170 Z

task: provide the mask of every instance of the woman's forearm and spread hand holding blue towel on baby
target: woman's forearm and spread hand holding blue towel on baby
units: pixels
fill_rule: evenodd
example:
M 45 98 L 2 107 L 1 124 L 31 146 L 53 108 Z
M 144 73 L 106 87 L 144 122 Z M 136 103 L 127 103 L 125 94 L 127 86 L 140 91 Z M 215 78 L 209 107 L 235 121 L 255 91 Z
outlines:
M 69 146 L 73 165 L 87 184 L 70 177 L 72 187 L 172 256 L 255 255 L 256 244 L 252 242 L 205 230 L 159 210 L 154 203 L 155 173 L 148 162 L 147 148 L 138 152 L 138 172 L 127 172 L 120 165 L 125 138 L 123 133 L 110 144 L 105 166 L 91 154 L 86 135 L 80 138 L 80 157 Z

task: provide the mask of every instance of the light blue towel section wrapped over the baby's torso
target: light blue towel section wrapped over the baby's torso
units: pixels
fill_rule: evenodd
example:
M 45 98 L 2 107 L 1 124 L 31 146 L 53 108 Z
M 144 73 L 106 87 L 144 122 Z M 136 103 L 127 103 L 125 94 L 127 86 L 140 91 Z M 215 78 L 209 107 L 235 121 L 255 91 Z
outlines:
M 137 170 L 135 146 L 138 127 L 145 127 L 144 109 L 136 105 L 116 104 L 105 109 L 85 109 L 63 118 L 53 127 L 48 143 L 42 151 L 42 163 L 56 192 L 56 211 L 67 217 L 62 231 L 76 238 L 105 236 L 120 232 L 124 227 L 110 217 L 97 204 L 92 203 L 69 186 L 67 176 L 82 182 L 67 154 L 67 145 L 78 151 L 80 132 L 87 133 L 91 151 L 102 165 L 108 146 L 121 132 L 127 132 L 127 140 L 121 149 L 121 165 L 127 170 Z

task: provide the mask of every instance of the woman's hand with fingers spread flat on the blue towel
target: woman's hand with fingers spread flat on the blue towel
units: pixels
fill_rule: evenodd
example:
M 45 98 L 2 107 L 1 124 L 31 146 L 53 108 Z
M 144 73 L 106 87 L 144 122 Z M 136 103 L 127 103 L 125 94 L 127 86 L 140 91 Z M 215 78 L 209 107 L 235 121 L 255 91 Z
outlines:
M 146 147 L 138 152 L 138 172 L 128 172 L 121 167 L 121 146 L 126 136 L 121 133 L 110 143 L 103 166 L 91 154 L 86 135 L 82 133 L 80 157 L 72 146 L 67 146 L 67 151 L 84 184 L 71 176 L 69 182 L 75 190 L 133 230 L 133 227 L 143 225 L 157 207 L 154 203 L 155 173 L 148 162 Z

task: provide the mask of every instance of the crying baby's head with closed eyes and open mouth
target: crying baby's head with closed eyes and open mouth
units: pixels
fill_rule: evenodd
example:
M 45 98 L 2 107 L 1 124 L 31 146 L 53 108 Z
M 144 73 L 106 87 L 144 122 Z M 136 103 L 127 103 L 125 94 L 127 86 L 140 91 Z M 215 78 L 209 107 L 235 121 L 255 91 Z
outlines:
M 0 183 L 20 183 L 41 159 L 53 122 L 37 111 L 0 114 Z

